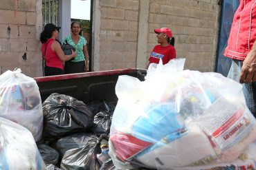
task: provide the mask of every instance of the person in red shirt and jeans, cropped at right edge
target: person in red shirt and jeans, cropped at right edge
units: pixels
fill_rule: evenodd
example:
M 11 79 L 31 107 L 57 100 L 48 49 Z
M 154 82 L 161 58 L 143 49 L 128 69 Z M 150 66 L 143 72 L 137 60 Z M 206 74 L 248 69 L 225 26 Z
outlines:
M 228 78 L 243 83 L 246 105 L 256 117 L 256 1 L 240 0 L 224 56 L 232 59 Z

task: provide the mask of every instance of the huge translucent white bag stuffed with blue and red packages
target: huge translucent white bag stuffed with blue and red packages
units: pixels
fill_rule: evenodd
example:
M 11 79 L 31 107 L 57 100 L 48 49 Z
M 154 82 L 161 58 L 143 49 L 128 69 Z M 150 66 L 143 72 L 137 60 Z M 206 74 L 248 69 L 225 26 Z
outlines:
M 109 155 L 118 169 L 201 169 L 236 160 L 256 139 L 242 86 L 183 70 L 185 59 L 149 65 L 145 81 L 119 76 Z

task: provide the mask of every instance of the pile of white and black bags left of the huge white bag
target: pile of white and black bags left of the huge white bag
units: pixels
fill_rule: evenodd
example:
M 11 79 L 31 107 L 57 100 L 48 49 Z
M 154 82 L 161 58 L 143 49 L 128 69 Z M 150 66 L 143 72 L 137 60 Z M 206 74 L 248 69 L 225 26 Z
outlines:
M 115 104 L 103 100 L 89 106 L 57 93 L 42 104 L 33 78 L 20 69 L 2 74 L 0 169 L 114 167 L 108 155 L 108 135 Z

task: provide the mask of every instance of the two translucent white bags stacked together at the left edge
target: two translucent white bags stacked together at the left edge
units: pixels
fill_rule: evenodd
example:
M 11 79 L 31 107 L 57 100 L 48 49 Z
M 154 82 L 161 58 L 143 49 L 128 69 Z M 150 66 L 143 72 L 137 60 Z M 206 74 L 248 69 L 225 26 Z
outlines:
M 35 143 L 42 138 L 42 126 L 42 102 L 35 80 L 20 69 L 1 74 L 0 169 L 45 169 Z

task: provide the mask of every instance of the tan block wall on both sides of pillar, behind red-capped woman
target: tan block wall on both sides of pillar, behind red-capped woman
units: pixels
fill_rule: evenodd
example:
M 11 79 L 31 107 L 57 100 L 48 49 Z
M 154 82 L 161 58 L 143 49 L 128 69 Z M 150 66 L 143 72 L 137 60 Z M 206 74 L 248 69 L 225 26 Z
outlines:
M 100 0 L 100 70 L 136 66 L 140 1 Z M 219 29 L 217 0 L 150 0 L 147 56 L 157 44 L 154 28 L 171 28 L 185 68 L 214 71 Z M 144 57 L 144 56 L 143 56 Z

